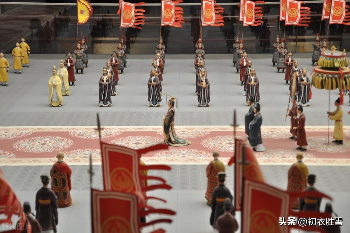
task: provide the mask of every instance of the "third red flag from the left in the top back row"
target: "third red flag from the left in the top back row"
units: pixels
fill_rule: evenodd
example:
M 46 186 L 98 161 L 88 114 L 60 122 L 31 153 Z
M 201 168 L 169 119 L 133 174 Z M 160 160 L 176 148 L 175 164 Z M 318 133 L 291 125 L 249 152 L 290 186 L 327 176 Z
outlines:
M 224 26 L 224 17 L 219 13 L 224 13 L 221 6 L 215 0 L 202 0 L 201 21 L 202 26 Z

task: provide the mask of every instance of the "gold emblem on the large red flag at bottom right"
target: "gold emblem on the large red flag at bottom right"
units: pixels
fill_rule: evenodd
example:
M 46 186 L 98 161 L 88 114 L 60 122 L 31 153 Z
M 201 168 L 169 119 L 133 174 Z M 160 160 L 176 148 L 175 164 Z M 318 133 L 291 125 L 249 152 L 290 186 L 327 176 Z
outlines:
M 267 211 L 266 209 L 259 209 L 254 211 L 251 214 L 251 232 L 268 232 L 268 233 L 278 233 L 280 229 L 278 225 L 276 225 L 276 215 L 271 211 Z

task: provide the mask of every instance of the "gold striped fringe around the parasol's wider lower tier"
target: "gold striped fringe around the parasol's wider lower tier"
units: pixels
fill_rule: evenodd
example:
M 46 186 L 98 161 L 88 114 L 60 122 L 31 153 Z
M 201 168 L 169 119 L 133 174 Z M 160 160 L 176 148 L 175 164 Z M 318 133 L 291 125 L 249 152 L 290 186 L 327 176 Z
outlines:
M 323 74 L 324 75 L 324 74 Z M 311 84 L 317 89 L 326 89 L 326 90 L 334 90 L 334 89 L 350 89 L 350 77 L 344 77 L 343 80 L 340 77 L 331 77 L 331 76 L 323 76 L 320 73 L 314 73 L 312 76 Z

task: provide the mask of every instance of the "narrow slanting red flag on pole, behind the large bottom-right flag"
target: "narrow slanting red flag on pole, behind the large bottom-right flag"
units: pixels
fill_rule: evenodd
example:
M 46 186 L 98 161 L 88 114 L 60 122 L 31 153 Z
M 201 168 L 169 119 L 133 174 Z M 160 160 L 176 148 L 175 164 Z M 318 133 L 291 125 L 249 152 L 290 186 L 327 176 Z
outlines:
M 241 164 L 243 158 L 243 148 L 245 147 L 245 158 L 248 163 L 245 165 L 243 170 L 243 165 Z M 254 157 L 254 153 L 250 147 L 245 145 L 245 142 L 240 139 L 235 139 L 235 157 L 232 157 L 228 165 L 235 163 L 235 209 L 236 211 L 241 208 L 241 191 L 242 191 L 242 175 L 244 172 L 244 177 L 264 182 L 264 176 L 260 170 L 258 161 Z

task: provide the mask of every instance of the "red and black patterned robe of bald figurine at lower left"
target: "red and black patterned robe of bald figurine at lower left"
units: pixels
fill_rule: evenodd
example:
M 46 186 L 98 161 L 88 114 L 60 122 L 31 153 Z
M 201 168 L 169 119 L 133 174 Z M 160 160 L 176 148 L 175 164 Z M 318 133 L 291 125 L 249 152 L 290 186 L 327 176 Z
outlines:
M 69 191 L 72 189 L 70 177 L 72 170 L 65 162 L 55 162 L 50 170 L 52 179 L 51 189 L 57 196 L 58 207 L 67 207 L 72 204 Z

